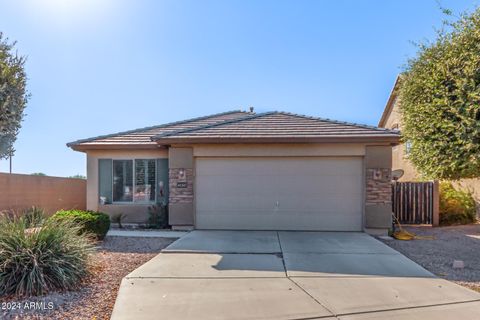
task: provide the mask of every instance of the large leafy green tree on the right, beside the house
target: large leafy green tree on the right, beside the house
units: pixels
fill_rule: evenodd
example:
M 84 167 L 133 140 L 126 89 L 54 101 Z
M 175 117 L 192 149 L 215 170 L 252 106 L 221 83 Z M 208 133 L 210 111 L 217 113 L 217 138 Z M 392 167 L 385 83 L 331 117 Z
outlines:
M 399 101 L 409 159 L 424 177 L 480 176 L 480 8 L 419 45 Z

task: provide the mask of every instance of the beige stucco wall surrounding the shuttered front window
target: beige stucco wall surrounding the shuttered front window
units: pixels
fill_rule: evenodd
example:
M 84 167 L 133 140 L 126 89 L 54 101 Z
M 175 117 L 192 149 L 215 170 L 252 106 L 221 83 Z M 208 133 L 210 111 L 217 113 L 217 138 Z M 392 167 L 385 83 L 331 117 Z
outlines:
M 143 223 L 148 205 L 109 204 L 99 206 L 98 159 L 157 159 L 168 158 L 166 149 L 153 150 L 90 150 L 87 151 L 87 209 L 100 210 L 108 214 L 124 213 L 125 223 Z

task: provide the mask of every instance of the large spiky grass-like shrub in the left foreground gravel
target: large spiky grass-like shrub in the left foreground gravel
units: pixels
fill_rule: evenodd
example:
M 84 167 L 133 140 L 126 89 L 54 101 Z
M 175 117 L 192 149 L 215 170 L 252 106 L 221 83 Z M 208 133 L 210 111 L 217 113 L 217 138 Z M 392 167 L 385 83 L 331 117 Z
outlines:
M 93 241 L 69 220 L 0 217 L 0 295 L 41 295 L 78 287 L 89 274 Z

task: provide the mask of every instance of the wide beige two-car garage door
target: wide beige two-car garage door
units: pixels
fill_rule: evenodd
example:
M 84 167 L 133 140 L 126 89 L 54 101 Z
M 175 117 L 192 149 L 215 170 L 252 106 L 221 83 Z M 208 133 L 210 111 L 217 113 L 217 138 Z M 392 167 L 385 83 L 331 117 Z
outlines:
M 197 158 L 197 229 L 361 231 L 361 157 Z

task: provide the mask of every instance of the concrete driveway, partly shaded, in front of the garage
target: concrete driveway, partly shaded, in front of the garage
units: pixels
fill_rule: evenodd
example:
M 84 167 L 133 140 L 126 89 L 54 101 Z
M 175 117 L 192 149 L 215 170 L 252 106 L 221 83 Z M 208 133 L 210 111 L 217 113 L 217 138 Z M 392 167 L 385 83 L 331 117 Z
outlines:
M 112 319 L 478 319 L 480 294 L 364 233 L 193 231 L 122 281 Z

